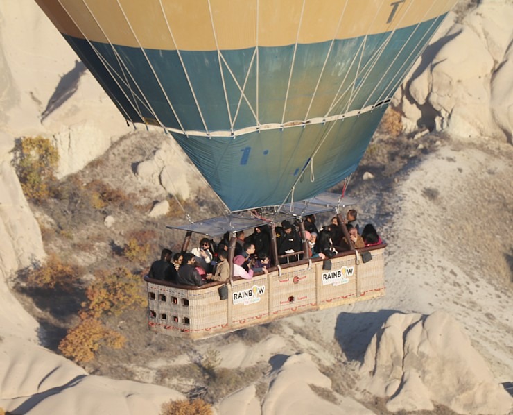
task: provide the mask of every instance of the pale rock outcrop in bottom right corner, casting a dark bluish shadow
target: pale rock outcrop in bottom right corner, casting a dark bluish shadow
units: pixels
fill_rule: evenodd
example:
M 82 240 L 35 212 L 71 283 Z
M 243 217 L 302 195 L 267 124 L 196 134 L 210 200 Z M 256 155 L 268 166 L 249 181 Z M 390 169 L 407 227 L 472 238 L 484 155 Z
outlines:
M 392 314 L 374 335 L 360 368 L 361 387 L 390 398 L 392 412 L 434 409 L 508 414 L 513 398 L 494 380 L 460 325 L 442 311 Z

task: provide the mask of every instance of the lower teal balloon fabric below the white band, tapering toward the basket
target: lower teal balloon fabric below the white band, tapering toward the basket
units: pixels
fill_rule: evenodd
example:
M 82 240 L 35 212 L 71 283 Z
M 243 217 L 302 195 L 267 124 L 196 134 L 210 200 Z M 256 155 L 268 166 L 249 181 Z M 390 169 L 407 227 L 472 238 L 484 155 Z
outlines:
M 358 166 L 384 110 L 234 138 L 173 136 L 229 210 L 237 211 L 289 202 L 296 182 L 295 201 L 339 183 Z M 311 181 L 305 166 L 321 142 Z

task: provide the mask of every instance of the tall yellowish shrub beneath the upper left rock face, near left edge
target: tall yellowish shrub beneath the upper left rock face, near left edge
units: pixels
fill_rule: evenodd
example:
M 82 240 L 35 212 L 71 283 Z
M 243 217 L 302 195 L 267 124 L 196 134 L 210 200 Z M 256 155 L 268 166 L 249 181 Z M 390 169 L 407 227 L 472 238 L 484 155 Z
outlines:
M 17 140 L 14 164 L 27 198 L 46 201 L 51 196 L 51 184 L 55 181 L 59 153 L 50 140 L 43 137 L 24 137 Z

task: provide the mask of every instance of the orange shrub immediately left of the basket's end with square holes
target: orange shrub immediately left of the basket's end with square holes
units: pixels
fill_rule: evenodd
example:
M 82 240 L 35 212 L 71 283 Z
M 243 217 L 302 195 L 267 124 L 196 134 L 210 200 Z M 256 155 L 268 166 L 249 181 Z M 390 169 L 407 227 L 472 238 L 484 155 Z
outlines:
M 119 315 L 124 310 L 146 305 L 141 278 L 123 267 L 98 271 L 85 295 L 89 302 L 82 305 L 84 312 L 96 318 L 104 314 Z

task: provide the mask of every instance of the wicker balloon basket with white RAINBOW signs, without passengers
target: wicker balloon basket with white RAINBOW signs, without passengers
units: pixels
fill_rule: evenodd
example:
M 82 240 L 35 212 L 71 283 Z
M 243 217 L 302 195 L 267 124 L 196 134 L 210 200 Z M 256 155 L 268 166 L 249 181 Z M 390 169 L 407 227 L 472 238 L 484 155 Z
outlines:
M 150 330 L 188 339 L 269 323 L 293 314 L 338 307 L 385 295 L 384 247 L 368 250 L 372 260 L 354 252 L 322 260 L 298 262 L 279 271 L 236 279 L 221 300 L 220 285 L 182 289 L 148 284 Z

